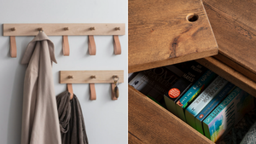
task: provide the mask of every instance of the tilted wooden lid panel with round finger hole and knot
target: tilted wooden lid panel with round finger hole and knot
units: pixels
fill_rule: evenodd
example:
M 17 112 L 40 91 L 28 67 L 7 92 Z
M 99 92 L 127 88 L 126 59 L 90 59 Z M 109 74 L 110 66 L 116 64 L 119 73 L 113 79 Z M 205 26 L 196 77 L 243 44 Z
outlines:
M 190 22 L 189 14 L 197 14 L 198 20 Z M 216 55 L 216 49 L 201 0 L 129 0 L 129 68 L 145 70 L 154 62 L 191 54 L 195 60 Z

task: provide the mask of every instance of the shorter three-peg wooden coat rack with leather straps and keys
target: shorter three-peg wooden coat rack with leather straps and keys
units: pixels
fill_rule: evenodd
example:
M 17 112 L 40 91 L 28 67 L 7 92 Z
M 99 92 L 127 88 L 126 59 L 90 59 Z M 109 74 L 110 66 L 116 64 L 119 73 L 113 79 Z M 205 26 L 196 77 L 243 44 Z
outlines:
M 67 84 L 67 90 L 73 98 L 72 84 L 90 84 L 90 100 L 96 100 L 95 84 L 111 84 L 112 100 L 118 100 L 114 93 L 114 78 L 118 83 L 124 83 L 124 71 L 60 71 L 60 84 Z

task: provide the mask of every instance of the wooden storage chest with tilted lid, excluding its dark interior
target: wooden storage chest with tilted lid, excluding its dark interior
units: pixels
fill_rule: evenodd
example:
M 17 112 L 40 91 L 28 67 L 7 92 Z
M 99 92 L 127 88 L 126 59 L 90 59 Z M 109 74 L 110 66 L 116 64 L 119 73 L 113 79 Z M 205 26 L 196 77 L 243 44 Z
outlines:
M 129 0 L 129 72 L 196 60 L 256 96 L 254 7 L 246 1 Z M 198 19 L 188 21 L 188 14 Z M 129 143 L 213 142 L 129 86 Z

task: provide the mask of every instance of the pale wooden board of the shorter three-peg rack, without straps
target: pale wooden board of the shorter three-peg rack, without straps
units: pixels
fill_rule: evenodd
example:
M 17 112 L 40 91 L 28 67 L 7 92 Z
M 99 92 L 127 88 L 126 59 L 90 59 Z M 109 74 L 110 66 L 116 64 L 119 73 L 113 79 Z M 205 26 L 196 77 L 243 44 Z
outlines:
M 96 84 L 113 83 L 113 75 L 119 77 L 118 83 L 124 83 L 124 71 L 60 71 L 60 84 Z M 91 78 L 95 76 L 96 78 Z

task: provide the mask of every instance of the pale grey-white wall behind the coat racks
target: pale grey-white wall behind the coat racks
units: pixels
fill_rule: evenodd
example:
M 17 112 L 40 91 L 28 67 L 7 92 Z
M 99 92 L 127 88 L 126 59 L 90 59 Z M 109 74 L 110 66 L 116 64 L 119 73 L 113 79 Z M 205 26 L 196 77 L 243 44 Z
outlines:
M 59 84 L 61 70 L 125 70 L 128 58 L 127 0 L 12 0 L 0 2 L 3 23 L 125 23 L 126 34 L 120 36 L 122 55 L 113 55 L 113 37 L 95 36 L 96 55 L 89 55 L 87 36 L 69 37 L 70 56 L 63 56 L 61 37 L 49 37 L 55 44 L 53 65 L 55 94 L 66 89 Z M 9 37 L 0 28 L 0 143 L 20 143 L 23 82 L 26 66 L 20 65 L 26 45 L 33 37 L 16 37 L 17 58 L 9 56 Z M 47 33 L 46 33 L 47 34 Z M 96 84 L 96 101 L 89 100 L 88 84 L 73 84 L 74 93 L 84 113 L 90 144 L 127 143 L 128 99 L 127 76 L 119 84 L 118 101 L 111 100 L 110 84 Z

